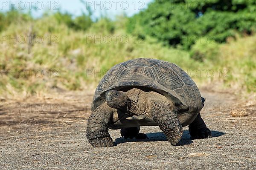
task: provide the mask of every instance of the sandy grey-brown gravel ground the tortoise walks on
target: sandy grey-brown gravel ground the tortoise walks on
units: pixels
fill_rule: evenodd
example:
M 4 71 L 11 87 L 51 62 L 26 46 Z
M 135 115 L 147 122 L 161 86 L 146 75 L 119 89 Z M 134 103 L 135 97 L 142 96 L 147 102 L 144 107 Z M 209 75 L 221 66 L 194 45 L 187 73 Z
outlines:
M 192 140 L 188 128 L 172 146 L 159 127 L 141 127 L 148 139 L 124 139 L 93 148 L 86 138 L 93 91 L 64 92 L 0 107 L 0 170 L 32 169 L 251 169 L 256 168 L 256 104 L 227 92 L 201 89 L 201 115 L 212 138 Z M 230 114 L 241 114 L 232 117 Z

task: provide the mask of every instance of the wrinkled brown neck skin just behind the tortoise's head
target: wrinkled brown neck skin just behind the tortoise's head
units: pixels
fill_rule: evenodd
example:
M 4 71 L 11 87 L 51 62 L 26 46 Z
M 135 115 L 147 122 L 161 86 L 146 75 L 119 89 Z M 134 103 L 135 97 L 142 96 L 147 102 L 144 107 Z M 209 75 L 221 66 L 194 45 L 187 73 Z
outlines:
M 140 94 L 138 94 L 134 98 L 128 98 L 125 107 L 121 110 L 128 115 L 141 115 L 147 112 L 148 106 L 146 101 L 140 100 Z

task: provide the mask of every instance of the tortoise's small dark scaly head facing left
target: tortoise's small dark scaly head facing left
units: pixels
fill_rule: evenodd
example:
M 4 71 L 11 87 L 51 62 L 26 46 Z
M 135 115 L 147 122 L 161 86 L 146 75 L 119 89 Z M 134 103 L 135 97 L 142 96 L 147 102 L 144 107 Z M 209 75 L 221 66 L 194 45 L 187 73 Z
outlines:
M 128 102 L 128 96 L 122 91 L 109 90 L 105 97 L 108 106 L 114 109 L 122 109 Z

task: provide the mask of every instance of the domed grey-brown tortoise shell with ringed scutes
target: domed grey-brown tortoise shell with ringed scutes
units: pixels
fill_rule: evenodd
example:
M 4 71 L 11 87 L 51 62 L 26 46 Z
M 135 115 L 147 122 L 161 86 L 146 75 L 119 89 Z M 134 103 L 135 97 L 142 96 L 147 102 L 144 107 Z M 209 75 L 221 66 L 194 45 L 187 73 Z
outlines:
M 105 102 L 105 92 L 143 87 L 171 99 L 175 106 L 188 107 L 186 113 L 199 112 L 203 107 L 201 94 L 189 75 L 174 63 L 150 58 L 137 58 L 113 66 L 95 90 L 92 110 Z

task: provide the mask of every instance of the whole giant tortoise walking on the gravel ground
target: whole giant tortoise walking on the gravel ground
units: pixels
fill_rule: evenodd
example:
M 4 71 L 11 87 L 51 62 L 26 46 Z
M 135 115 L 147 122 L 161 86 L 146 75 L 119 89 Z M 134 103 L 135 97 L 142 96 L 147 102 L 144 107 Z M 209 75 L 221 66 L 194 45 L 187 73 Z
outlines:
M 87 139 L 93 147 L 113 146 L 108 129 L 125 138 L 146 138 L 140 126 L 159 126 L 176 145 L 189 125 L 192 138 L 209 138 L 199 111 L 204 98 L 195 82 L 173 63 L 138 58 L 113 66 L 96 88 Z

